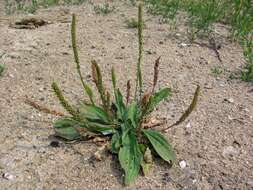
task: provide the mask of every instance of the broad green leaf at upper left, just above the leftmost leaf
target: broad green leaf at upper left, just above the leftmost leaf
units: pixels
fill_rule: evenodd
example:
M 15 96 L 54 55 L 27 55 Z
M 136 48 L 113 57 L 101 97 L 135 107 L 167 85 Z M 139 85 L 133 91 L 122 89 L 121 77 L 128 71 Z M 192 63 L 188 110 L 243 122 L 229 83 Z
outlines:
M 82 105 L 79 110 L 79 116 L 91 122 L 98 122 L 103 124 L 110 123 L 110 118 L 103 108 L 95 105 Z

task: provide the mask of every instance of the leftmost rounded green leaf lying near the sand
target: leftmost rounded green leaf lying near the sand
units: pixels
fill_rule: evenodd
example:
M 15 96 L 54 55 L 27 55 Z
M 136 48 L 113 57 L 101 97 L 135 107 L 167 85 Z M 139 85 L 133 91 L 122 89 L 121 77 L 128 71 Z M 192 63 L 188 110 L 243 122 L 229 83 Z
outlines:
M 79 123 L 71 118 L 58 119 L 53 124 L 55 135 L 66 140 L 76 140 L 80 139 L 81 135 L 75 129 L 79 126 Z

